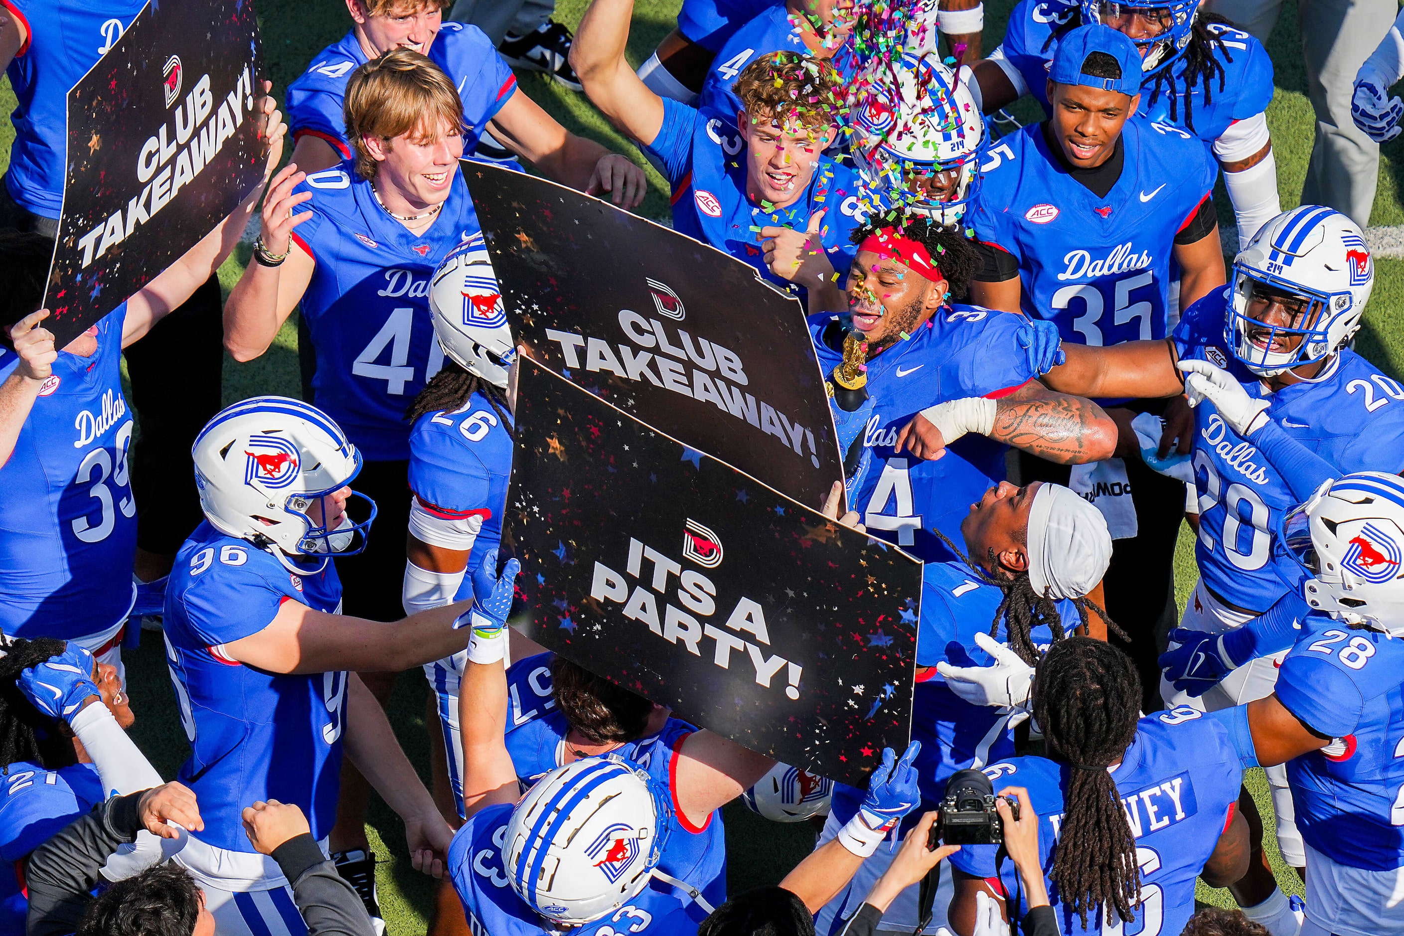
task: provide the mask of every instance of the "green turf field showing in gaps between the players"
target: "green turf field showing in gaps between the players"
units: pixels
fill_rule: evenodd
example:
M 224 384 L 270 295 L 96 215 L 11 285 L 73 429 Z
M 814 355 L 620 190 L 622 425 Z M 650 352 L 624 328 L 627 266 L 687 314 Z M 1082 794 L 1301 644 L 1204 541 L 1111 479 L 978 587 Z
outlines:
M 635 65 L 643 62 L 657 41 L 674 27 L 678 1 L 637 0 L 633 35 L 629 44 L 629 56 Z M 587 0 L 560 0 L 557 18 L 574 27 L 585 6 Z M 1002 35 L 1004 18 L 1012 6 L 1012 0 L 990 0 L 986 4 L 987 51 L 993 49 Z M 341 0 L 258 0 L 258 8 L 263 11 L 260 22 L 264 56 L 275 83 L 274 93 L 279 98 L 286 83 L 306 67 L 312 56 L 340 38 L 350 25 Z M 1314 122 L 1310 104 L 1303 93 L 1294 8 L 1292 0 L 1283 6 L 1282 21 L 1269 42 L 1269 51 L 1278 69 L 1278 93 L 1268 109 L 1268 121 L 1276 150 L 1283 208 L 1299 203 Z M 536 73 L 525 73 L 518 77 L 522 90 L 569 129 L 594 136 L 619 152 L 629 153 L 635 161 L 644 166 L 651 185 L 642 210 L 654 218 L 667 215 L 664 181 L 590 108 L 583 95 L 577 95 Z M 14 107 L 8 81 L 0 86 L 0 107 L 6 111 Z M 1016 114 L 1024 119 L 1036 119 L 1028 101 L 1016 109 Z M 3 159 L 7 159 L 11 136 L 8 122 L 3 122 L 0 126 Z M 1373 225 L 1404 225 L 1404 203 L 1398 198 L 1401 187 L 1404 187 L 1404 138 L 1384 147 L 1380 189 L 1372 218 Z M 1230 206 L 1221 191 L 1219 210 L 1221 219 L 1231 218 Z M 226 289 L 237 281 L 247 260 L 247 250 L 243 250 L 220 269 Z M 1404 297 L 1404 261 L 1377 261 L 1375 296 L 1366 312 L 1358 349 L 1396 377 L 1404 376 L 1401 297 Z M 289 321 L 278 341 L 263 358 L 244 365 L 226 359 L 226 403 L 260 393 L 298 396 L 296 342 L 296 328 Z M 385 533 L 382 530 L 382 535 Z M 1184 606 L 1185 596 L 1196 577 L 1188 528 L 1181 536 L 1175 570 L 1177 591 L 1181 606 Z M 386 588 L 397 589 L 399 582 L 386 582 Z M 132 709 L 139 716 L 132 733 L 161 773 L 174 776 L 177 766 L 187 756 L 187 745 L 166 675 L 159 634 L 147 633 L 145 637 L 142 648 L 126 657 Z M 410 759 L 421 773 L 427 775 L 425 695 L 427 688 L 418 674 L 406 674 L 390 703 L 390 720 L 397 727 Z M 1266 798 L 1265 782 L 1261 772 L 1254 772 L 1254 775 L 1250 776 L 1250 784 L 1255 787 L 1259 810 L 1271 827 L 1272 808 Z M 813 845 L 813 834 L 807 827 L 771 824 L 737 805 L 727 808 L 726 822 L 729 878 L 733 890 L 778 881 Z M 373 848 L 383 862 L 379 867 L 380 905 L 390 930 L 396 936 L 423 933 L 428 923 L 428 878 L 410 869 L 406 860 L 403 829 L 396 817 L 379 801 L 372 805 L 369 827 Z M 1276 862 L 1276 849 L 1271 842 L 1269 849 Z M 1278 866 L 1283 888 L 1300 892 L 1300 881 L 1296 874 L 1290 870 L 1283 871 L 1280 863 Z M 1212 891 L 1200 887 L 1200 898 L 1214 904 L 1231 904 L 1227 891 Z

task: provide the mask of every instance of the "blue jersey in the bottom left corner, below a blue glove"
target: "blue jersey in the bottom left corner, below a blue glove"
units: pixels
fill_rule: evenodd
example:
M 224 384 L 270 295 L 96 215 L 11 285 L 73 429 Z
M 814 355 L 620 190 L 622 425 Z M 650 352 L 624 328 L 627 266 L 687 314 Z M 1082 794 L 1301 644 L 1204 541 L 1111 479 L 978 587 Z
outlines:
M 0 775 L 0 933 L 22 933 L 29 900 L 24 862 L 34 849 L 101 803 L 102 782 L 91 763 L 45 770 L 17 761 Z

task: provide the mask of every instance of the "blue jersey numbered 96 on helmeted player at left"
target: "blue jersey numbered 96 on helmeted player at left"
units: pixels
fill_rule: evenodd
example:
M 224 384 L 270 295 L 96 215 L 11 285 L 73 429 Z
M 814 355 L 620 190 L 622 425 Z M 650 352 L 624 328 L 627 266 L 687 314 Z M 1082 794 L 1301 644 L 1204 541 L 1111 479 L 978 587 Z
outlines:
M 286 601 L 337 613 L 336 566 L 293 575 L 208 522 L 181 544 L 166 585 L 166 662 L 191 747 L 177 779 L 199 798 L 195 838 L 233 852 L 254 850 L 240 813 L 256 800 L 298 804 L 317 839 L 336 822 L 347 674 L 279 675 L 225 651 Z

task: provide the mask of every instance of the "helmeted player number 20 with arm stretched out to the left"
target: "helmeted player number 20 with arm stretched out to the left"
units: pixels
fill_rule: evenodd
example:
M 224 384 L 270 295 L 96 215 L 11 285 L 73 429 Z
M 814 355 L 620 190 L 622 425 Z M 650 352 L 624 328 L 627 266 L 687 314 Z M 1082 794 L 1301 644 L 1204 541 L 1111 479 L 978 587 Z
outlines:
M 1286 457 L 1300 457 L 1304 446 L 1338 473 L 1404 469 L 1404 407 L 1389 408 L 1398 385 L 1348 347 L 1373 282 L 1359 229 L 1330 208 L 1304 205 L 1264 225 L 1234 261 L 1233 286 L 1186 309 L 1167 341 L 1063 345 L 1068 362 L 1049 372 L 1053 387 L 1168 396 L 1185 389 L 1189 372 L 1192 393 L 1198 386 L 1217 397 L 1195 410 L 1199 582 L 1182 627 L 1221 634 L 1287 592 L 1269 561 L 1275 530 L 1283 512 L 1313 490 L 1269 453 L 1286 449 Z M 1241 394 L 1216 390 L 1214 380 L 1237 385 Z M 1241 704 L 1272 692 L 1280 658 L 1245 661 L 1199 700 L 1168 682 L 1161 693 L 1170 704 Z M 1286 772 L 1271 769 L 1268 777 L 1278 841 L 1287 862 L 1300 867 L 1306 856 L 1292 822 Z M 1258 864 L 1252 874 L 1257 890 L 1238 897 L 1250 908 L 1275 888 Z

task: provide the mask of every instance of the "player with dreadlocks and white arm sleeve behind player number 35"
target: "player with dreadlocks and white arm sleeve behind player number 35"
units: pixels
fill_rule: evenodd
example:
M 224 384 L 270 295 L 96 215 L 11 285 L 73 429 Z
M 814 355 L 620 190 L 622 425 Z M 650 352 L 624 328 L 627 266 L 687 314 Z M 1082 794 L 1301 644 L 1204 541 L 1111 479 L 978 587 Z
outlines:
M 1052 114 L 1047 73 L 1057 45 L 1092 22 L 1126 34 L 1140 51 L 1137 112 L 1193 135 L 1212 152 L 1238 220 L 1238 248 L 1247 247 L 1282 210 L 1265 112 L 1272 60 L 1258 39 L 1202 11 L 1200 0 L 1022 0 L 1004 42 L 974 66 L 984 111 L 1032 94 Z

